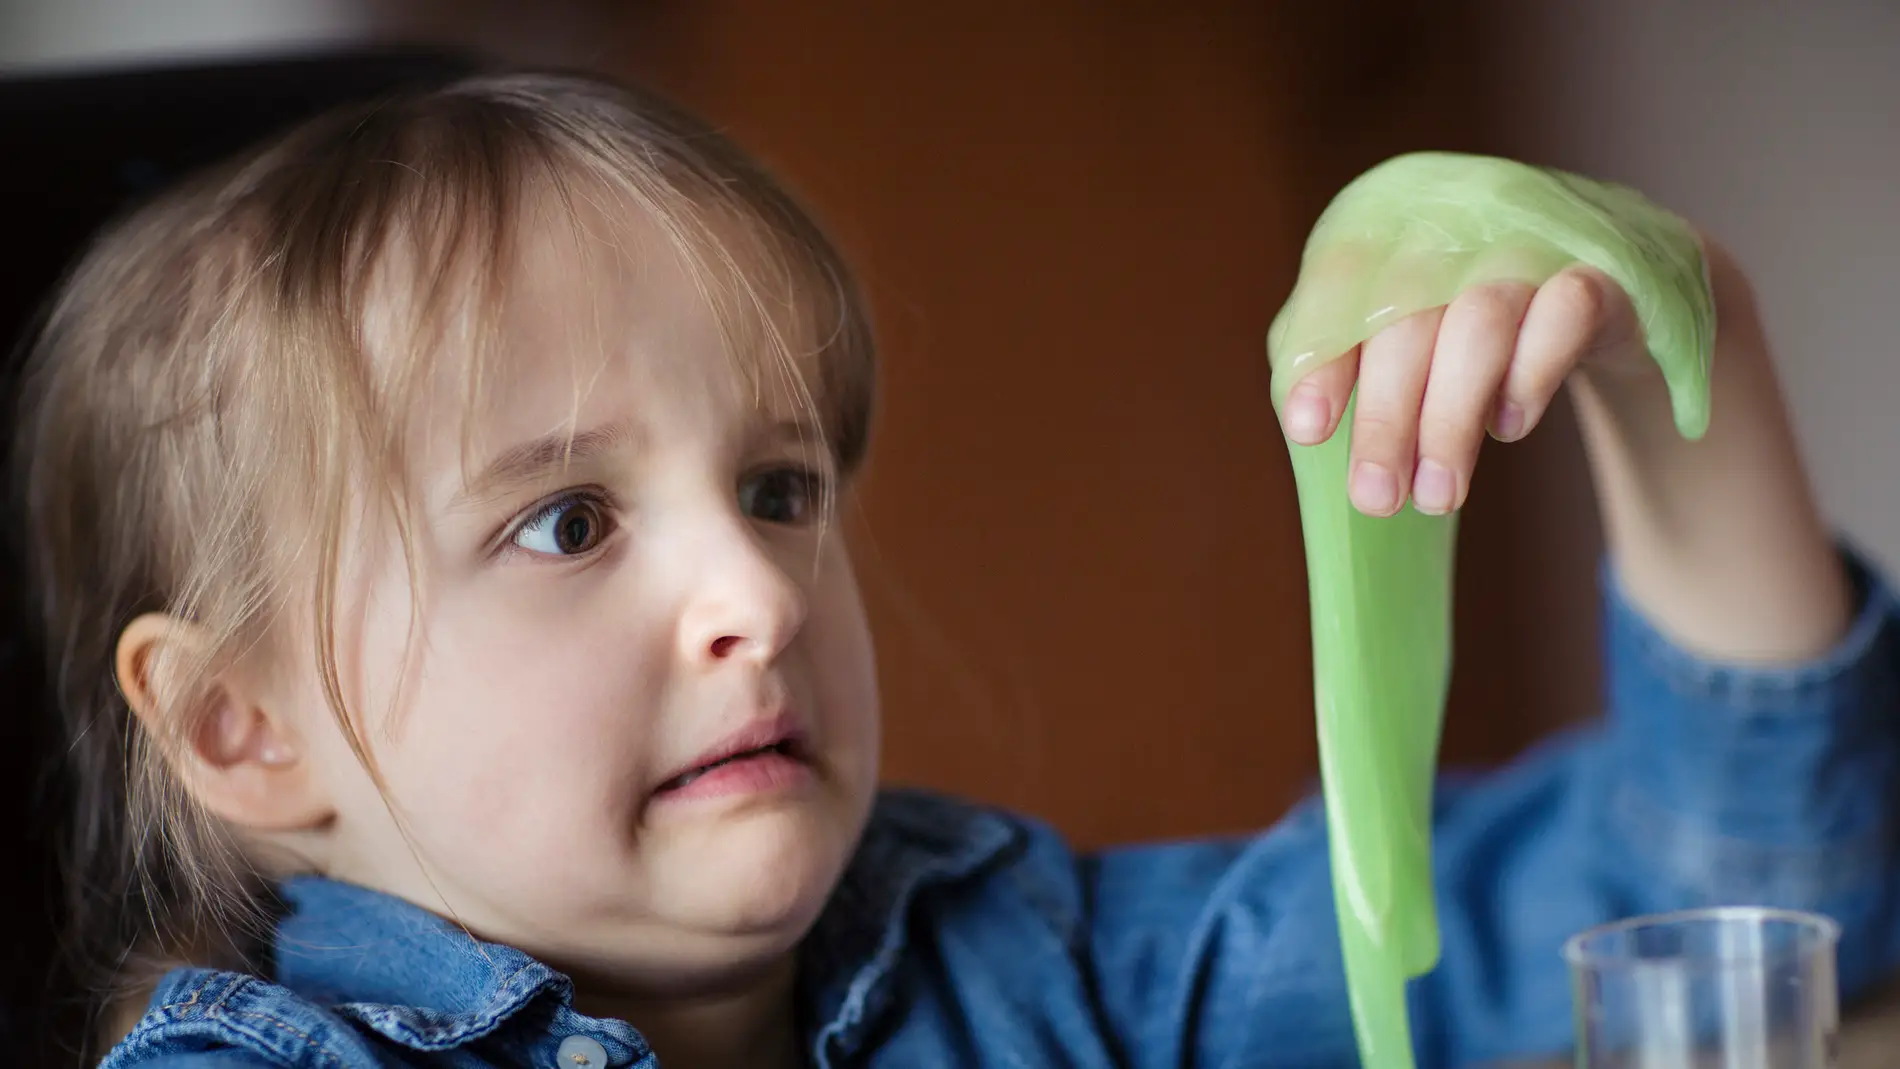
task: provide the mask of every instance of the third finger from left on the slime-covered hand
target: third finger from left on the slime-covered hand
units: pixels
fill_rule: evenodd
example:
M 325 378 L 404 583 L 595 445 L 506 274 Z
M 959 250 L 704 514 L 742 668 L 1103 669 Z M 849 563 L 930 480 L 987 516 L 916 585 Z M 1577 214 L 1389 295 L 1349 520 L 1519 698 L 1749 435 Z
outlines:
M 1450 513 L 1471 494 L 1478 446 L 1535 292 L 1528 283 L 1490 283 L 1461 292 L 1446 308 L 1419 410 L 1412 503 L 1421 513 Z

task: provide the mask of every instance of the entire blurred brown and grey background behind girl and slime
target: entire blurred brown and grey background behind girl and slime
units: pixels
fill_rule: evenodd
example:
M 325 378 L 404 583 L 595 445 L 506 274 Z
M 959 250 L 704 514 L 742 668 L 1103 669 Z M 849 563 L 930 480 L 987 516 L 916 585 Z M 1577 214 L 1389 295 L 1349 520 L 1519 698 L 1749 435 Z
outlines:
M 855 537 L 889 777 L 1108 843 L 1260 826 L 1313 784 L 1298 513 L 1262 338 L 1355 173 L 1463 148 L 1634 180 L 1767 262 L 1771 315 L 1797 340 L 1872 330 L 1877 302 L 1843 319 L 1816 272 L 1900 237 L 1900 213 L 1847 226 L 1828 199 L 1854 180 L 1872 199 L 1879 159 L 1892 175 L 1900 129 L 1868 101 L 1900 95 L 1900 15 L 1788 11 L 0 0 L 0 72 L 407 40 L 600 66 L 711 114 L 828 220 L 880 315 Z M 1862 156 L 1813 165 L 1828 152 Z M 1860 365 L 1826 363 L 1847 346 L 1818 349 L 1799 351 L 1797 414 L 1830 505 L 1890 532 L 1881 551 L 1900 518 L 1854 492 L 1879 454 L 1830 420 L 1860 404 L 1875 425 L 1877 403 Z M 1448 760 L 1499 761 L 1596 710 L 1596 553 L 1568 414 L 1488 452 Z

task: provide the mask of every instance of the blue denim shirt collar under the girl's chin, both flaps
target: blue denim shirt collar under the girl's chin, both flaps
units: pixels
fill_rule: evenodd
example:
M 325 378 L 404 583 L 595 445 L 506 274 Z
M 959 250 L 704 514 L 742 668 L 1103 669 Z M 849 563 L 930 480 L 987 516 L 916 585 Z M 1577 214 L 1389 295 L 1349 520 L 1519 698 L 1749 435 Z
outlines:
M 978 875 L 1016 839 L 1015 824 L 994 813 L 918 792 L 880 794 L 802 947 L 806 1020 L 821 1065 L 853 1054 L 889 1010 L 918 896 Z M 277 984 L 395 1042 L 460 1046 L 545 999 L 557 1018 L 572 1018 L 568 1025 L 585 1020 L 597 1037 L 606 1025 L 627 1056 L 644 1052 L 631 1027 L 581 1018 L 560 972 L 420 906 L 323 877 L 289 879 L 279 892 L 287 910 L 276 934 Z

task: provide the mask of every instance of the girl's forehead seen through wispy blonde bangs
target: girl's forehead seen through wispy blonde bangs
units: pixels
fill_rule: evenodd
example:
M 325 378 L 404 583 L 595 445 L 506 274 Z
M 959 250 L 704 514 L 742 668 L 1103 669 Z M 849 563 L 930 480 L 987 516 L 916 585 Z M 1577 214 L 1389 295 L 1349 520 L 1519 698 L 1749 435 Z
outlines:
M 370 359 L 388 412 L 408 423 L 393 431 L 412 465 L 466 469 L 610 423 L 821 422 L 823 313 L 806 308 L 817 287 L 796 285 L 739 220 L 682 226 L 614 203 L 524 197 L 488 243 L 494 258 L 428 262 L 420 241 L 390 251 L 370 291 Z M 448 296 L 431 308 L 429 294 Z

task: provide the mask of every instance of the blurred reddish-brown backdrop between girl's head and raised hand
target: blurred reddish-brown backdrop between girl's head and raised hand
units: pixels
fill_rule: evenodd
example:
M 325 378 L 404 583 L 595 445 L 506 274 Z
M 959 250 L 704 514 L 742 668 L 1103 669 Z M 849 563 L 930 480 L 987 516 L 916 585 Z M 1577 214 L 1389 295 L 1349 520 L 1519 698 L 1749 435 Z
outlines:
M 1357 171 L 1495 148 L 1463 61 L 1486 27 L 1374 0 L 1024 8 L 642 4 L 614 63 L 775 163 L 872 291 L 857 545 L 889 777 L 1085 843 L 1260 826 L 1315 775 L 1265 323 Z M 1484 473 L 1452 760 L 1594 703 L 1575 452 L 1558 431 Z M 1558 507 L 1524 507 L 1552 477 Z

